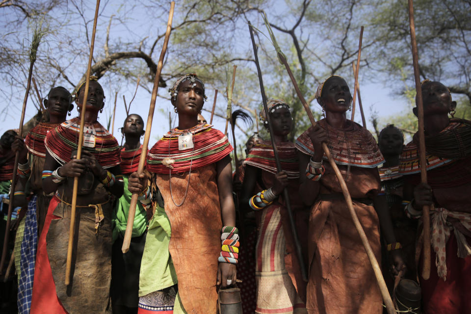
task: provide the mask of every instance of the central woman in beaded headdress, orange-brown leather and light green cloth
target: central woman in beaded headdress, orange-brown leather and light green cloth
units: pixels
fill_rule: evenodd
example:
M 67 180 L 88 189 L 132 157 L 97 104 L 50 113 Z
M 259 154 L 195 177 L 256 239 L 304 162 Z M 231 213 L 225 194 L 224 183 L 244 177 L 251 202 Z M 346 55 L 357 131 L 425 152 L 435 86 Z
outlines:
M 147 170 L 165 209 L 157 208 L 149 222 L 139 278 L 139 313 L 216 313 L 216 285 L 235 283 L 239 246 L 232 147 L 220 131 L 198 124 L 206 96 L 195 74 L 179 78 L 169 91 L 179 125 L 147 157 Z M 128 188 L 140 193 L 142 203 L 150 203 L 144 175 L 132 173 Z

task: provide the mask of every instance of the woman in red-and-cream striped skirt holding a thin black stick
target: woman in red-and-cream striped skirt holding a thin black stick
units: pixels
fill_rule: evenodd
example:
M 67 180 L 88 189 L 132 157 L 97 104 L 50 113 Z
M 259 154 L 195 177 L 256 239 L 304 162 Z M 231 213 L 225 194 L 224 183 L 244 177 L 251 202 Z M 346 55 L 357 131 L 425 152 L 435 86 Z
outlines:
M 300 271 L 286 201 L 282 195 L 283 190 L 287 188 L 297 226 L 296 231 L 299 238 L 305 239 L 308 212 L 303 210 L 299 197 L 296 148 L 288 140 L 288 134 L 292 130 L 292 118 L 289 105 L 283 100 L 270 99 L 267 108 L 268 113 L 262 109 L 260 118 L 267 128 L 266 115 L 270 115 L 273 137 L 283 171 L 277 171 L 270 139 L 255 144 L 244 161 L 245 175 L 241 197 L 241 204 L 255 211 L 259 226 L 255 254 L 257 259 L 255 313 L 268 314 L 280 311 L 307 313 L 306 283 Z

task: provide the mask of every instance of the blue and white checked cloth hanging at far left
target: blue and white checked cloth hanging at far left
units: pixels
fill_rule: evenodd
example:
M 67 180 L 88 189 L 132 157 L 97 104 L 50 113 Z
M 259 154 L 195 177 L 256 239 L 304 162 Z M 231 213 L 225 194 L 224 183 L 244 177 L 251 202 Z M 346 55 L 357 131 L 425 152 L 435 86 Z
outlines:
M 38 243 L 38 225 L 36 221 L 37 195 L 28 203 L 25 216 L 25 231 L 21 243 L 20 276 L 18 279 L 18 313 L 29 314 L 33 293 L 34 263 Z

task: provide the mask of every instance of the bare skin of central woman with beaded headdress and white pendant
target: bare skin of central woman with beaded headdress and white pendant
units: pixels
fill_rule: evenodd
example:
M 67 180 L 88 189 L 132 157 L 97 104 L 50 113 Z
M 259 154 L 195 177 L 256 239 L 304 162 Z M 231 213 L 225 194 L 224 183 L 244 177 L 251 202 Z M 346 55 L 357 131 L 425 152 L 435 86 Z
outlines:
M 204 90 L 199 82 L 193 86 L 189 80 L 183 81 L 177 93 L 176 101 L 172 100 L 178 110 L 179 130 L 187 130 L 198 124 L 198 113 L 203 108 Z M 231 157 L 226 156 L 216 163 L 216 182 L 221 206 L 221 218 L 224 226 L 235 226 L 235 206 L 232 196 L 232 166 Z M 140 193 L 147 187 L 144 174 L 134 172 L 129 177 L 128 189 L 131 193 Z M 227 287 L 227 280 L 235 283 L 235 264 L 219 263 L 216 285 Z

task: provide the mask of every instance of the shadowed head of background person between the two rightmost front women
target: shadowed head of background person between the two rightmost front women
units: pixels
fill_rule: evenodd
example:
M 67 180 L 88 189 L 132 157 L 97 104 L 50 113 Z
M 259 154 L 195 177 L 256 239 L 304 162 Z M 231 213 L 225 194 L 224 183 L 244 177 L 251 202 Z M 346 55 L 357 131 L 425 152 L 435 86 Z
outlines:
M 402 133 L 399 129 L 395 127 L 383 129 L 379 135 L 378 146 L 386 160 L 383 167 L 399 165 L 399 157 L 404 147 L 404 137 L 402 137 Z

